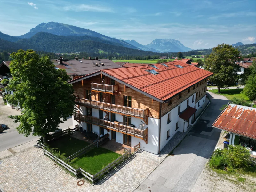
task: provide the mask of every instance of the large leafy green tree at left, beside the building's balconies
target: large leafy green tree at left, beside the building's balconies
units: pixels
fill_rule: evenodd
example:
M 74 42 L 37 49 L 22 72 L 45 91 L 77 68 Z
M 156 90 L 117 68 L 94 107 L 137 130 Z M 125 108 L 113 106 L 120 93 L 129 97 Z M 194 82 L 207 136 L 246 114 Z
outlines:
M 64 69 L 55 69 L 48 56 L 39 57 L 33 50 L 12 53 L 10 71 L 13 76 L 7 89 L 8 102 L 23 108 L 21 115 L 9 116 L 20 122 L 16 128 L 28 136 L 43 136 L 53 132 L 75 111 L 75 97 L 69 76 Z

